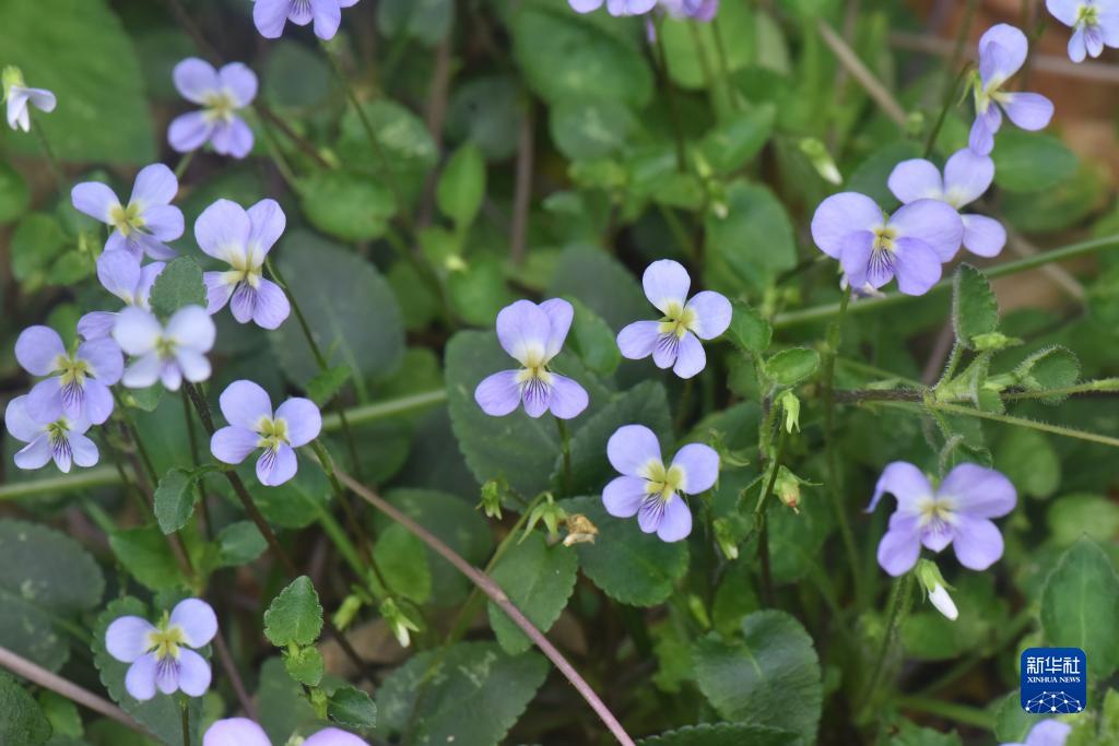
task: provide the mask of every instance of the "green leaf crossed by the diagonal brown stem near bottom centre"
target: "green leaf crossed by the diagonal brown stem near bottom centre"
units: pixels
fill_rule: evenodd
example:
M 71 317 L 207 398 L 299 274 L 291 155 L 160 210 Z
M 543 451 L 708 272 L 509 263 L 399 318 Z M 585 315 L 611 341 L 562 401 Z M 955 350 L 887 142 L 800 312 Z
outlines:
M 549 547 L 540 531 L 533 531 L 513 545 L 490 576 L 537 630 L 547 632 L 575 589 L 577 569 L 574 549 L 562 544 Z M 532 648 L 532 641 L 492 601 L 489 620 L 505 652 L 516 655 Z

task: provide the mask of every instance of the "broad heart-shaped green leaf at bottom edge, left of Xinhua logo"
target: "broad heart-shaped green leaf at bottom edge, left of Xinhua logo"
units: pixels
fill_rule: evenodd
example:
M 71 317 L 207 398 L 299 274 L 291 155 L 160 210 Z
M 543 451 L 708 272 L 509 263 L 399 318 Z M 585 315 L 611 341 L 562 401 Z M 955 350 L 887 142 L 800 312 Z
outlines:
M 742 633 L 736 642 L 714 634 L 696 642 L 696 678 L 707 701 L 730 720 L 792 730 L 816 743 L 822 686 L 811 638 L 779 611 L 747 615 Z

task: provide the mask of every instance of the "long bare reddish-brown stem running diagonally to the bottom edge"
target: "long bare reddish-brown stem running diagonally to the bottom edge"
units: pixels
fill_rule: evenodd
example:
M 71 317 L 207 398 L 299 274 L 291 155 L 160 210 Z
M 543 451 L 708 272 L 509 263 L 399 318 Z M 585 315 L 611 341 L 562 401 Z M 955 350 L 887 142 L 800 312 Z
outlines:
M 521 632 L 528 635 L 540 651 L 548 657 L 548 660 L 560 669 L 560 672 L 566 677 L 567 681 L 571 682 L 575 690 L 586 700 L 586 703 L 595 711 L 599 718 L 605 724 L 610 733 L 613 734 L 618 743 L 623 744 L 623 746 L 633 746 L 633 739 L 630 738 L 629 734 L 622 727 L 618 718 L 614 717 L 610 708 L 606 707 L 605 702 L 599 698 L 599 696 L 591 688 L 591 684 L 580 676 L 579 671 L 567 662 L 567 659 L 563 657 L 555 645 L 544 636 L 544 634 L 536 629 L 532 622 L 517 608 L 509 597 L 505 594 L 505 591 L 493 582 L 493 579 L 482 573 L 480 569 L 463 559 L 458 553 L 451 549 L 449 546 L 443 544 L 439 538 L 432 535 L 427 529 L 416 523 L 414 520 L 405 516 L 403 512 L 397 510 L 394 506 L 386 502 L 373 490 L 367 489 L 360 482 L 354 480 L 352 476 L 346 472 L 337 472 L 338 479 L 354 491 L 355 494 L 360 497 L 363 500 L 372 504 L 374 508 L 385 513 L 394 521 L 406 528 L 413 536 L 426 544 L 434 551 L 441 555 L 446 561 L 451 563 L 457 570 L 462 573 L 473 583 L 476 586 L 481 588 L 482 593 L 489 596 L 490 601 L 498 605 L 498 607 L 506 613 L 506 615 L 513 620 L 514 624 L 520 627 Z

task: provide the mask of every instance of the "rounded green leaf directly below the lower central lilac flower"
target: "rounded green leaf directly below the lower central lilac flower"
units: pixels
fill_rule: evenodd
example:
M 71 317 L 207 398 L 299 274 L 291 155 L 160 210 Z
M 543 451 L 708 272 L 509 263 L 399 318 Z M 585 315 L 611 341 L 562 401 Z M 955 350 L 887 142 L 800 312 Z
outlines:
M 579 564 L 594 585 L 623 604 L 656 606 L 673 594 L 688 568 L 686 541 L 667 544 L 643 533 L 636 518 L 606 513 L 599 497 L 560 503 L 570 513 L 583 513 L 599 529 L 594 544 L 580 544 Z

